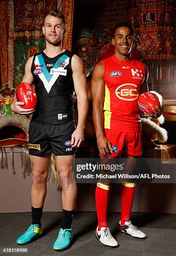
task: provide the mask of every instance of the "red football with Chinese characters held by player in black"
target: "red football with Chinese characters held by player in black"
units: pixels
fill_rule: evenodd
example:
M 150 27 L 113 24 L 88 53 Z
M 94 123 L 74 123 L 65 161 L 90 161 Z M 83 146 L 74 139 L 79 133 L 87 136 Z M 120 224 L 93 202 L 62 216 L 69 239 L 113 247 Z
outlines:
M 28 83 L 19 84 L 16 90 L 16 100 L 25 102 L 25 105 L 22 105 L 21 108 L 35 108 L 37 103 L 37 94 L 34 87 Z

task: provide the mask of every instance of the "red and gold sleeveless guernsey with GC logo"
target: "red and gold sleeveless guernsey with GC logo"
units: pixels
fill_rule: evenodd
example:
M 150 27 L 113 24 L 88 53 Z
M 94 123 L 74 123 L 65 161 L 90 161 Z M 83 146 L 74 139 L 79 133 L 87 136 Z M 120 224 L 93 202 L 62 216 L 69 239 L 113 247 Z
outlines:
M 104 128 L 137 132 L 141 130 L 137 100 L 145 70 L 138 60 L 119 61 L 115 55 L 104 62 Z

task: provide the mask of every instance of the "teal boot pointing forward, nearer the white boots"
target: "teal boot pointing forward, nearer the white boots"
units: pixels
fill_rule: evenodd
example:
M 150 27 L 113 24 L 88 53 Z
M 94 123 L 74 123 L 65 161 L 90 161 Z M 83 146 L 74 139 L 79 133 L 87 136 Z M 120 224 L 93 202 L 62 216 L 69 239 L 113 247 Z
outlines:
M 59 236 L 57 237 L 53 249 L 54 250 L 64 250 L 67 247 L 69 247 L 71 241 L 72 241 L 72 233 L 69 232 L 72 231 L 72 229 L 60 229 L 59 230 Z

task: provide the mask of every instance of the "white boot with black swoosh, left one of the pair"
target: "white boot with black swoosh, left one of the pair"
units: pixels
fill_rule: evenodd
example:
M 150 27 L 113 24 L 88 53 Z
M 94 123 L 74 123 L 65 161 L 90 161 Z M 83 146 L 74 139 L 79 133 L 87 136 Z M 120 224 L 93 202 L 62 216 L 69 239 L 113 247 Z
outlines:
M 98 231 L 98 227 L 95 231 L 97 239 L 106 246 L 116 247 L 118 246 L 117 241 L 114 239 L 112 234 L 110 233 L 109 228 L 102 227 L 101 230 Z

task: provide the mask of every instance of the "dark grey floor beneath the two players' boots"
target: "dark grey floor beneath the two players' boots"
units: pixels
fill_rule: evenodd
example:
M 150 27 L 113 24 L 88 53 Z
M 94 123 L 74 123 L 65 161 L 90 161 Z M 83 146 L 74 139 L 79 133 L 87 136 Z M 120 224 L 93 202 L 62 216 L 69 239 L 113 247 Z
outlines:
M 74 215 L 73 243 L 67 251 L 54 251 L 52 246 L 62 219 L 62 212 L 44 212 L 42 228 L 45 235 L 25 246 L 16 244 L 16 239 L 30 225 L 31 214 L 0 214 L 0 254 L 30 256 L 176 256 L 176 215 L 132 213 L 132 223 L 146 233 L 146 239 L 133 238 L 119 233 L 117 222 L 119 213 L 109 213 L 108 223 L 111 233 L 119 243 L 118 248 L 109 248 L 95 237 L 97 227 L 96 212 L 76 212 Z M 27 248 L 27 253 L 4 253 L 4 248 Z

